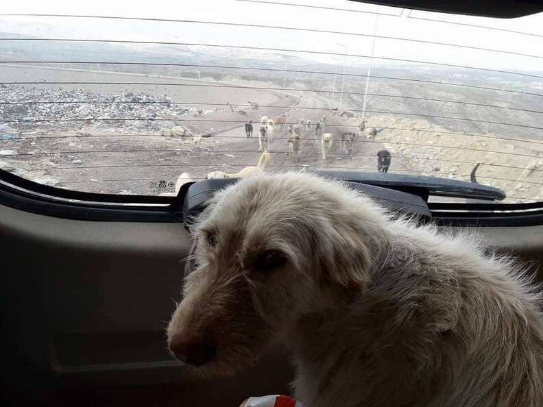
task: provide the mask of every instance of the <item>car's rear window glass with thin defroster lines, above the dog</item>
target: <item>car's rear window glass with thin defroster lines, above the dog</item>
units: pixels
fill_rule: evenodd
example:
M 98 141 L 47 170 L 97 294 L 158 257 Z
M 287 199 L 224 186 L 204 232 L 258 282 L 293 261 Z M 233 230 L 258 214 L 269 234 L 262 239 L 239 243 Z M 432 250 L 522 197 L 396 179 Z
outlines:
M 175 195 L 205 178 L 363 171 L 543 200 L 543 14 L 332 0 L 0 12 L 0 169 L 29 180 Z

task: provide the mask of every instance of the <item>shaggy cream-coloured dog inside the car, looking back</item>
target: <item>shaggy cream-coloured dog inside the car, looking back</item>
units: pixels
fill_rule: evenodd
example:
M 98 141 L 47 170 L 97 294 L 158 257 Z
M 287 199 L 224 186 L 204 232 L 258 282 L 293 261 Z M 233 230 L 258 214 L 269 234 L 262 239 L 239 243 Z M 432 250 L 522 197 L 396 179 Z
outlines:
M 194 238 L 169 343 L 217 351 L 188 369 L 233 373 L 282 339 L 308 407 L 543 406 L 540 297 L 474 237 L 287 173 L 217 193 Z M 270 252 L 284 264 L 263 269 Z

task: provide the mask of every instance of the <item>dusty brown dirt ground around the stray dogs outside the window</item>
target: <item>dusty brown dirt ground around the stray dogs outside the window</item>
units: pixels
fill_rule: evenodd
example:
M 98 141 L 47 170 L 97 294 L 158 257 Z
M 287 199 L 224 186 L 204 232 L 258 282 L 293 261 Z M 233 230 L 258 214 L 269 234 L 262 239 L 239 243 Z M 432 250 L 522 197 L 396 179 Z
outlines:
M 56 82 L 74 77 L 69 70 L 52 73 L 27 67 L 24 73 L 17 73 L 9 66 L 1 69 L 3 77 L 12 77 L 14 82 L 18 80 L 16 75 L 26 78 L 34 71 Z M 77 77 L 80 76 L 81 73 L 77 73 Z M 367 132 L 374 128 L 380 132 L 371 138 L 367 132 L 359 137 L 354 155 L 350 157 L 339 150 L 339 136 L 342 132 L 357 132 L 362 117 L 360 114 L 340 116 L 342 110 L 332 110 L 336 104 L 322 94 L 280 93 L 250 86 L 221 88 L 224 84 L 218 82 L 214 82 L 217 87 L 202 88 L 200 85 L 208 85 L 209 81 L 147 75 L 90 72 L 84 73 L 84 78 L 90 83 L 86 86 L 90 92 L 112 94 L 127 90 L 127 85 L 107 86 L 96 82 L 132 82 L 129 90 L 137 88 L 141 92 L 164 94 L 169 100 L 183 101 L 187 106 L 192 101 L 202 112 L 193 109 L 191 114 L 159 117 L 154 121 L 140 121 L 138 125 L 135 121 L 122 120 L 8 123 L 14 136 L 0 140 L 0 168 L 42 184 L 73 190 L 156 195 L 160 193 L 156 188 L 158 184 L 175 183 L 181 174 L 185 174 L 187 181 L 200 180 L 211 171 L 235 173 L 256 165 L 260 156 L 256 121 L 262 115 L 286 114 L 287 123 L 298 123 L 302 119 L 316 123 L 324 115 L 324 131 L 335 137 L 333 151 L 326 160 L 322 160 L 314 125 L 302 132 L 300 162 L 293 162 L 285 154 L 287 126 L 277 127 L 270 149 L 272 160 L 265 171 L 310 168 L 376 171 L 376 153 L 386 148 L 392 154 L 389 173 L 469 181 L 473 167 L 481 163 L 477 180 L 505 190 L 509 196 L 506 201 L 524 201 L 520 197 L 543 199 L 540 183 L 543 158 L 538 152 L 541 142 L 530 138 L 504 139 L 493 133 L 458 134 L 426 120 L 374 114 L 366 117 Z M 137 82 L 186 86 L 157 87 Z M 63 89 L 73 91 L 81 87 L 62 85 Z M 206 101 L 216 104 L 206 105 Z M 260 103 L 257 110 L 250 106 L 251 101 Z M 249 120 L 255 122 L 252 138 L 247 138 L 243 129 Z M 174 125 L 188 129 L 190 135 L 162 136 L 163 128 Z

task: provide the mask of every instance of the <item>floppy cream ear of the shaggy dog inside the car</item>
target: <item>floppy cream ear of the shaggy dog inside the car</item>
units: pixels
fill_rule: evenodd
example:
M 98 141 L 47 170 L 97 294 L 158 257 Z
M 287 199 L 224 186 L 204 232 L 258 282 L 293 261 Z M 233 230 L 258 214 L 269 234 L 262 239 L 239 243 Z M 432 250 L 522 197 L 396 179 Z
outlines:
M 332 229 L 320 243 L 319 257 L 324 278 L 346 288 L 367 286 L 371 257 L 363 236 L 351 227 L 335 225 Z

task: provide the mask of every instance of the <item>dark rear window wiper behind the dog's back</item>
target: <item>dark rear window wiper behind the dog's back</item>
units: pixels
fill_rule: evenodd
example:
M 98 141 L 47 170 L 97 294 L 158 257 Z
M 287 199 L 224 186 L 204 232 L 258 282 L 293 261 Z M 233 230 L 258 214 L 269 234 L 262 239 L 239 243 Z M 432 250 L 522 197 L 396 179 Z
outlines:
M 426 200 L 428 200 L 429 195 L 437 197 L 485 199 L 486 201 L 501 201 L 506 197 L 503 190 L 494 188 L 494 186 L 482 185 L 476 182 L 450 180 L 448 178 L 354 171 L 310 170 L 310 172 L 342 181 L 359 182 L 361 184 L 401 190 L 403 192 L 419 195 Z

